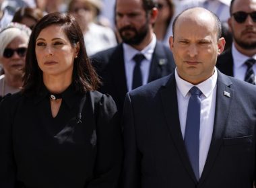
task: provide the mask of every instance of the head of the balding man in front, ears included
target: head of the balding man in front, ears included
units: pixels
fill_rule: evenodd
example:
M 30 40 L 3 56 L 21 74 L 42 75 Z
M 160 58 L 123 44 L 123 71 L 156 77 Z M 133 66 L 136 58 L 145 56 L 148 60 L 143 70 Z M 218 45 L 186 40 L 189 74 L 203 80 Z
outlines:
M 217 40 L 214 18 L 209 13 L 183 13 L 170 38 L 179 77 L 197 85 L 211 77 L 225 40 Z

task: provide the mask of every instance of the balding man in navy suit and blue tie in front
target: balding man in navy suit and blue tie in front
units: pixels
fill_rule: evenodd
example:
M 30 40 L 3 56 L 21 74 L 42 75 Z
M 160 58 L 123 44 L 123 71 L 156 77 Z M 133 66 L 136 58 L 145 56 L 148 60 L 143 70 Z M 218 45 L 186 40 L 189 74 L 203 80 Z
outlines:
M 253 188 L 256 87 L 215 67 L 220 20 L 195 7 L 174 21 L 174 74 L 127 93 L 125 188 Z

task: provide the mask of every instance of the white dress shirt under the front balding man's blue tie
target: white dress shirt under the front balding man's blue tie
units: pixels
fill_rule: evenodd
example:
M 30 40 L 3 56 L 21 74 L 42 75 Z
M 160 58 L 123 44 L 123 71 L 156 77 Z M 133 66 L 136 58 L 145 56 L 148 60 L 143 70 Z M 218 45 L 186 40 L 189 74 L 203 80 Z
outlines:
M 212 140 L 212 132 L 214 130 L 214 115 L 216 105 L 216 83 L 218 73 L 214 71 L 214 75 L 196 85 L 202 92 L 201 95 L 201 112 L 200 112 L 200 132 L 199 132 L 199 176 L 203 172 L 203 167 L 207 158 Z M 177 83 L 177 99 L 179 107 L 179 120 L 181 123 L 181 133 L 185 136 L 187 107 L 189 105 L 189 90 L 194 85 L 181 79 L 175 69 L 175 79 Z

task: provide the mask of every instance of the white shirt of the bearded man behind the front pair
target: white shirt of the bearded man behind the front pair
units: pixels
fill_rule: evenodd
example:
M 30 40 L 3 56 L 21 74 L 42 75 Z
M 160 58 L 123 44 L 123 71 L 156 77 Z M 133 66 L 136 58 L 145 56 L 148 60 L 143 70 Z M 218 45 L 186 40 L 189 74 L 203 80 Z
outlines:
M 156 35 L 153 34 L 152 41 L 146 48 L 141 50 L 136 50 L 135 48 L 123 43 L 123 56 L 125 60 L 125 75 L 127 81 L 127 90 L 131 91 L 133 84 L 133 69 L 135 66 L 135 61 L 133 57 L 135 54 L 141 53 L 145 56 L 145 59 L 141 62 L 141 74 L 142 74 L 142 85 L 148 83 L 148 77 L 150 75 L 150 64 L 153 56 L 154 49 L 156 47 Z

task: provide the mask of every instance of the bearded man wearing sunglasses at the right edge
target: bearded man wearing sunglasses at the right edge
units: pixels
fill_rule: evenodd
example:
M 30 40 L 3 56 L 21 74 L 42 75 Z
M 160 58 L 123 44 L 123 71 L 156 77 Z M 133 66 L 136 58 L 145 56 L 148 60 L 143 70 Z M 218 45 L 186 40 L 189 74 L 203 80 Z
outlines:
M 256 1 L 232 0 L 228 25 L 232 48 L 218 57 L 218 69 L 229 76 L 255 85 Z

